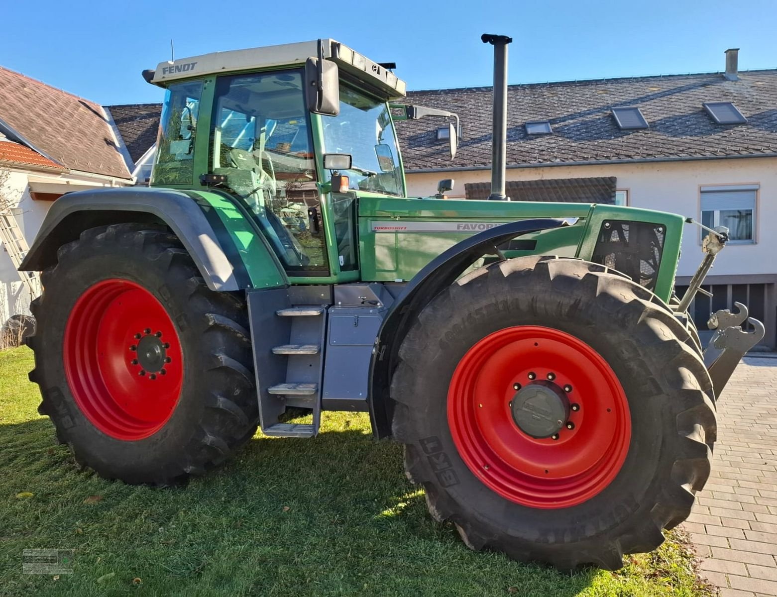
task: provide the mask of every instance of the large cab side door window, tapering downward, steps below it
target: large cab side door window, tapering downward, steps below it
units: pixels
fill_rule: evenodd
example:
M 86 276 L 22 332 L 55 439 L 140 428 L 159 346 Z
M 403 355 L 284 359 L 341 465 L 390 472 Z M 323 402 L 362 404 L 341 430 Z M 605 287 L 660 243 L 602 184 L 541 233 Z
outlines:
M 216 80 L 211 172 L 248 207 L 287 272 L 329 266 L 300 71 Z

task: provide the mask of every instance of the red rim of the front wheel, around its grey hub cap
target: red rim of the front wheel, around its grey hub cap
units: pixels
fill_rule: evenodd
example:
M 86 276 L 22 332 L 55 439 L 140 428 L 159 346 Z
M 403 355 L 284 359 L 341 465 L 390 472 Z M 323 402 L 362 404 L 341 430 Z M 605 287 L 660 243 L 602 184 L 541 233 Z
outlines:
M 540 380 L 568 397 L 568 421 L 555 439 L 528 435 L 513 415 L 517 392 Z M 448 390 L 448 425 L 484 484 L 533 508 L 593 498 L 618 474 L 631 440 L 629 403 L 605 359 L 566 332 L 535 325 L 495 331 L 462 357 Z

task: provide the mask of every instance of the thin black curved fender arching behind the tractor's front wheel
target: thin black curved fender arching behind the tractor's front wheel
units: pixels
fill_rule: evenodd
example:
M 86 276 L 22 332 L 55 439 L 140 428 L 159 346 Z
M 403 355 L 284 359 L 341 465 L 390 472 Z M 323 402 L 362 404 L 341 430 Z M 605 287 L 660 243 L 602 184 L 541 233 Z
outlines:
M 437 293 L 450 286 L 483 255 L 499 253 L 497 247 L 513 238 L 570 225 L 569 220 L 539 218 L 518 220 L 474 234 L 432 259 L 405 287 L 392 304 L 378 330 L 370 363 L 368 408 L 372 432 L 380 439 L 391 435 L 393 404 L 389 397 L 399 345 L 409 331 L 416 314 Z

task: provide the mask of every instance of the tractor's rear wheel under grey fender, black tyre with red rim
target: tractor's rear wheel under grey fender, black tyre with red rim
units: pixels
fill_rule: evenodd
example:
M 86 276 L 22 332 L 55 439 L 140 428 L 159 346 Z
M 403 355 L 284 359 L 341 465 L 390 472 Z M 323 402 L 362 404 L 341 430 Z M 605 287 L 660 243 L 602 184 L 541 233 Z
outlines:
M 152 224 L 92 228 L 42 281 L 30 380 L 82 466 L 176 484 L 253 436 L 245 300 L 209 290 L 175 236 Z

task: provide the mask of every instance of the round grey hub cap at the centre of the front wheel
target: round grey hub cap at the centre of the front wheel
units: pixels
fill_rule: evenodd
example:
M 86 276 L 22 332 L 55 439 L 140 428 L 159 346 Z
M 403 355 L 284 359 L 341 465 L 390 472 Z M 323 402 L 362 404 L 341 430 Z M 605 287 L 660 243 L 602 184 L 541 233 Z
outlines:
M 513 421 L 528 436 L 556 435 L 570 418 L 570 401 L 552 381 L 539 380 L 518 390 L 510 410 Z

